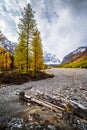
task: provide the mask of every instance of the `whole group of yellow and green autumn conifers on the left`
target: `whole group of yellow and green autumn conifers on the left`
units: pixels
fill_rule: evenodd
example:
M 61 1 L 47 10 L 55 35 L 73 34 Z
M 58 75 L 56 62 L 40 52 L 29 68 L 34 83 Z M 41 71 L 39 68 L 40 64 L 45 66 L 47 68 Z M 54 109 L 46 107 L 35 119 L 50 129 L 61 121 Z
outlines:
M 11 53 L 0 47 L 0 71 L 32 72 L 31 75 L 36 77 L 44 69 L 44 60 L 40 32 L 30 4 L 22 12 L 18 28 L 19 39 L 15 51 Z M 3 41 L 1 32 L 0 41 Z

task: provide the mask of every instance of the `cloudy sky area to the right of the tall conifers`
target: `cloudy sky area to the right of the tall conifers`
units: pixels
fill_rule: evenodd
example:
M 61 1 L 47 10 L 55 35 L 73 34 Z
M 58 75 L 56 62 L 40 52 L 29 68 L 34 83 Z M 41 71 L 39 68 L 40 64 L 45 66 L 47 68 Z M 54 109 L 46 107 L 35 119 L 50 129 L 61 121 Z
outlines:
M 87 0 L 39 0 L 37 3 L 36 11 L 41 10 L 38 18 L 44 34 L 42 41 L 49 50 L 62 58 L 69 50 L 87 45 Z

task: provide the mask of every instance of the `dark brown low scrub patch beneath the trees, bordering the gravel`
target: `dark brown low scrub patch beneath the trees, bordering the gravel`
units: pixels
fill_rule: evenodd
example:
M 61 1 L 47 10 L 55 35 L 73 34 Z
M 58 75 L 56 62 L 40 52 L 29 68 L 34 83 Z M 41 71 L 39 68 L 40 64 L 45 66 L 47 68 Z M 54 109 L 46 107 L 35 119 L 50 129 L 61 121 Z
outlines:
M 28 73 L 17 73 L 8 72 L 0 73 L 0 84 L 23 84 L 29 81 L 42 80 L 46 78 L 53 78 L 54 75 L 46 74 L 45 72 L 38 72 L 37 76 L 32 76 L 31 72 Z

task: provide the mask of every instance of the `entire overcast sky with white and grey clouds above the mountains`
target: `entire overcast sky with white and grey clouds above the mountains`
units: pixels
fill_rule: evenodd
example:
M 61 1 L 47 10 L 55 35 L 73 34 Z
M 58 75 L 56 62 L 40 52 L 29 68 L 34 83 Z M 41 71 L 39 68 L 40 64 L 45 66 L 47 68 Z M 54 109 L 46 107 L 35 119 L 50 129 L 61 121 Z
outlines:
M 87 46 L 87 0 L 0 0 L 0 30 L 10 41 L 18 41 L 17 25 L 27 3 L 36 12 L 44 50 L 62 60 Z

